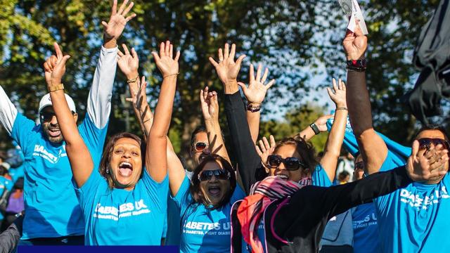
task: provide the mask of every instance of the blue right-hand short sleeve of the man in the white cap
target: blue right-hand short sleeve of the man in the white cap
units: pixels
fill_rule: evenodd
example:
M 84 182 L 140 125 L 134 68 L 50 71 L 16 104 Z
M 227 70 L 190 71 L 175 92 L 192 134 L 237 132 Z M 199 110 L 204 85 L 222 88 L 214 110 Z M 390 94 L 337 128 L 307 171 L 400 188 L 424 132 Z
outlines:
M 98 129 L 89 115 L 86 115 L 82 124 L 79 124 L 78 131 L 79 135 L 82 136 L 84 143 L 86 143 L 89 153 L 91 153 L 92 160 L 94 161 L 94 168 L 98 167 L 103 153 L 103 145 L 105 144 L 108 124 L 106 124 L 103 129 Z

